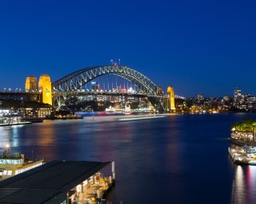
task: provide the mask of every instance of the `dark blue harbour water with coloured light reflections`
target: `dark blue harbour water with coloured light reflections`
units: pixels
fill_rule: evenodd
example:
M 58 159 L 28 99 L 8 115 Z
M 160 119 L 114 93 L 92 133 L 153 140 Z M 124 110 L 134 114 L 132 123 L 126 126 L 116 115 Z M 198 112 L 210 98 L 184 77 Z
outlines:
M 115 161 L 113 203 L 256 203 L 256 167 L 231 163 L 230 125 L 254 115 L 50 121 L 0 128 L 0 144 L 46 161 Z

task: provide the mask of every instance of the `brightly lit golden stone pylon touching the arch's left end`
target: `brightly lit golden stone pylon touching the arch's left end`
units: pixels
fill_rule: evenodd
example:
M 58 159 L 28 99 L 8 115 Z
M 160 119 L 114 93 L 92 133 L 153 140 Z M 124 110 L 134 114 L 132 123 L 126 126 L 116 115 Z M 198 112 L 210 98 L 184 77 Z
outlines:
M 39 78 L 38 90 L 39 92 L 42 92 L 42 99 L 40 102 L 44 104 L 52 105 L 53 101 L 52 101 L 51 82 L 50 82 L 49 75 L 45 74 Z

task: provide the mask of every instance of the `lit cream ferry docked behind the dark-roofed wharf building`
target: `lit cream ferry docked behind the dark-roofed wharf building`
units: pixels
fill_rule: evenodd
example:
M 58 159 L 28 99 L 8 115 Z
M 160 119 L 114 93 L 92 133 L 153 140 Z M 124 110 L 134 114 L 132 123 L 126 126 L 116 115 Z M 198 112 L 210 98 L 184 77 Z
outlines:
M 18 175 L 43 164 L 43 159 L 25 159 L 24 154 L 10 154 L 10 146 L 6 145 L 0 155 L 0 181 Z

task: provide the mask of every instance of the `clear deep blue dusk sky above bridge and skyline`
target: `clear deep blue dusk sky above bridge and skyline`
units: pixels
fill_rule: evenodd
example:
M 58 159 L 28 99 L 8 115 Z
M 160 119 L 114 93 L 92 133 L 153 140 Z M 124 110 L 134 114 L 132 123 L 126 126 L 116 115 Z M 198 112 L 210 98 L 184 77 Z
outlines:
M 256 1 L 0 2 L 0 89 L 121 59 L 180 96 L 256 96 Z

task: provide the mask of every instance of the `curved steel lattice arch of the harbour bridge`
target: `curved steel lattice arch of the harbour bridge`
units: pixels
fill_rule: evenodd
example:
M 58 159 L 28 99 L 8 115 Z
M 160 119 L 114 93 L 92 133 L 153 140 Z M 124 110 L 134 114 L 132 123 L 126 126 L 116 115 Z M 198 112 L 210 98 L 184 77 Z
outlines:
M 103 65 L 95 66 L 86 69 L 78 70 L 77 72 L 70 73 L 66 77 L 62 77 L 53 83 L 54 92 L 62 92 L 62 100 L 66 100 L 64 92 L 74 92 L 82 90 L 83 86 L 95 78 L 102 77 L 106 74 L 112 74 L 118 77 L 123 77 L 130 80 L 133 84 L 137 85 L 143 94 L 148 96 L 149 99 L 154 101 L 154 105 L 162 107 L 160 98 L 164 96 L 164 92 L 148 77 L 139 73 L 134 69 L 121 65 Z M 58 94 L 59 96 L 59 94 Z M 158 100 L 156 100 L 158 98 Z M 62 105 L 60 98 L 58 100 L 58 108 Z

